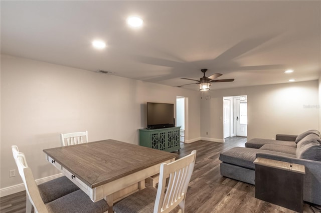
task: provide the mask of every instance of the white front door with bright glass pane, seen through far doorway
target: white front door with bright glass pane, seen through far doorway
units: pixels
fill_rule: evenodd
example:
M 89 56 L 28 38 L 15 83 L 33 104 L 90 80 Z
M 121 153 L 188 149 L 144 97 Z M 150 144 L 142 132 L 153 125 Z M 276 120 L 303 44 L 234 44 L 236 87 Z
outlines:
M 235 99 L 236 135 L 247 136 L 247 102 Z

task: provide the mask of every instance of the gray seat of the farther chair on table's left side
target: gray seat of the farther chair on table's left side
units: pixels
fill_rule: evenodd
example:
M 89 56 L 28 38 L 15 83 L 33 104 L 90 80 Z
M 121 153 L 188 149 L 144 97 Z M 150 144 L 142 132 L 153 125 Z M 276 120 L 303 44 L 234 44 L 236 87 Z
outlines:
M 66 176 L 44 182 L 38 185 L 39 193 L 44 203 L 53 201 L 66 194 L 79 190 Z

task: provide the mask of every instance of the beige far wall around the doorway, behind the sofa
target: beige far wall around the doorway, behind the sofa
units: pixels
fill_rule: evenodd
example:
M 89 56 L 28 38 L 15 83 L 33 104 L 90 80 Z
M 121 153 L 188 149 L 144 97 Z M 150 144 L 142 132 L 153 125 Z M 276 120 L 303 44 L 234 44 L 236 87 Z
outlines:
M 201 137 L 223 139 L 223 96 L 236 95 L 247 95 L 248 139 L 318 129 L 317 80 L 211 90 L 208 95 L 201 101 Z

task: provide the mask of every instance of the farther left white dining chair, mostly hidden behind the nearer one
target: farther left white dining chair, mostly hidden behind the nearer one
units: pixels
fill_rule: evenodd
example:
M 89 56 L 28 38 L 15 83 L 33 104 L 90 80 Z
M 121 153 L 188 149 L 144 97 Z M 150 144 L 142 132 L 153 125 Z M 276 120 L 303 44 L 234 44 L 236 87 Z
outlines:
M 19 151 L 19 148 L 17 145 L 12 145 L 11 147 L 12 147 L 12 153 L 14 155 L 15 160 L 17 159 L 17 156 L 19 154 L 25 156 L 23 152 Z M 24 163 L 26 166 L 28 166 L 26 157 L 24 158 L 25 158 Z M 62 177 L 58 177 L 53 180 L 49 180 L 47 182 L 39 184 L 38 189 L 43 202 L 47 203 L 59 197 L 62 197 L 68 193 L 79 190 L 79 187 L 75 185 L 72 181 L 70 181 L 66 176 L 62 176 Z M 32 208 L 32 205 L 31 205 L 28 193 L 26 193 L 26 213 L 30 213 L 31 208 Z

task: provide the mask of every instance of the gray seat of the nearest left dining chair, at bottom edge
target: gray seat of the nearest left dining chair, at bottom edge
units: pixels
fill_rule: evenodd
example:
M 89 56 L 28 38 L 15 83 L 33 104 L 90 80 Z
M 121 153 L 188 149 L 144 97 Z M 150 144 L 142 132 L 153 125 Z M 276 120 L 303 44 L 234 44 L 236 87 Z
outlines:
M 102 199 L 93 202 L 81 189 L 46 203 L 48 212 L 90 213 L 108 210 L 107 202 Z

